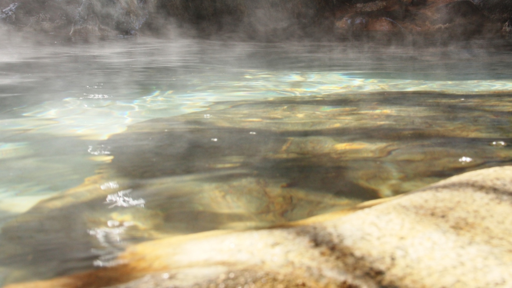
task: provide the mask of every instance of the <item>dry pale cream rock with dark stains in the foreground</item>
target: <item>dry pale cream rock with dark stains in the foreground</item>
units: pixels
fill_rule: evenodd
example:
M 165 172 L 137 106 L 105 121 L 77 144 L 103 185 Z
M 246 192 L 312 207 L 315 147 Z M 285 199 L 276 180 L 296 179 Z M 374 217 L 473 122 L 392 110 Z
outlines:
M 22 287 L 509 287 L 512 167 L 272 229 L 137 244 L 120 265 Z

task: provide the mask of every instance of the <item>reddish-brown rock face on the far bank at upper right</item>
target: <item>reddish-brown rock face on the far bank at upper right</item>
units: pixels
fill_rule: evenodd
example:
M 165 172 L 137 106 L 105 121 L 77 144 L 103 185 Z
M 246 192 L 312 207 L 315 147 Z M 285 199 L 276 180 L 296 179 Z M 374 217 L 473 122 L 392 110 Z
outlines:
M 467 37 L 496 34 L 504 24 L 470 0 L 374 1 L 348 5 L 336 11 L 336 30 L 396 31 Z

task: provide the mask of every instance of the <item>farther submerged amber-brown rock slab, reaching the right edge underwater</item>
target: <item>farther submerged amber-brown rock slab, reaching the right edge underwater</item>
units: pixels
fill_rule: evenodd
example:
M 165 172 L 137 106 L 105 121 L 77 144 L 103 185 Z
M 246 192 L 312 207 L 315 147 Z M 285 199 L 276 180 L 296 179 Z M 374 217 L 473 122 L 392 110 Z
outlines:
M 509 101 L 423 92 L 228 101 L 132 125 L 103 145 L 123 177 L 239 168 L 286 187 L 371 199 L 510 162 L 508 147 L 491 145 L 512 137 Z

